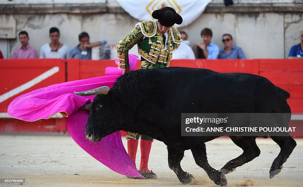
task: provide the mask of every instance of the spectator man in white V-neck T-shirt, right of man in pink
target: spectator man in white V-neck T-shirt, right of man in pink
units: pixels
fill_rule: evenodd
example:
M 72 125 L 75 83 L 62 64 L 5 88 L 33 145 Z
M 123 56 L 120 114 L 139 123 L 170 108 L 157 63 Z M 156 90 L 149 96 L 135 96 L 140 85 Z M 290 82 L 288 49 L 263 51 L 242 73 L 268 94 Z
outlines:
M 69 47 L 59 42 L 60 32 L 56 27 L 49 29 L 51 43 L 42 45 L 39 58 L 67 58 Z

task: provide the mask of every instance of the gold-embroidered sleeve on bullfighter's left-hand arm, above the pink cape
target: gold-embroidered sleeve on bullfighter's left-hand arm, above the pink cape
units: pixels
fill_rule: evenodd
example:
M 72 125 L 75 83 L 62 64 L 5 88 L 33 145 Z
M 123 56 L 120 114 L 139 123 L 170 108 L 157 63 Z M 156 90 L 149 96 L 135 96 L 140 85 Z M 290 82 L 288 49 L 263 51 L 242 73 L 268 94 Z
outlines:
M 141 42 L 143 39 L 143 34 L 138 25 L 132 30 L 131 33 L 126 35 L 117 45 L 117 57 L 118 57 L 118 68 L 119 69 L 128 69 L 128 51 L 134 47 L 134 45 Z

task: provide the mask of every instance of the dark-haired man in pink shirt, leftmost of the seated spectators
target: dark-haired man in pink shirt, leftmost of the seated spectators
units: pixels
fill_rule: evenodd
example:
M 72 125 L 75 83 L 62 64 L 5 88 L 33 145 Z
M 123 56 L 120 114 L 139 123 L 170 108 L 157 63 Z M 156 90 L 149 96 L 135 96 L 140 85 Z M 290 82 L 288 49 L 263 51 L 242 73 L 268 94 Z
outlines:
M 19 41 L 22 46 L 15 49 L 11 58 L 37 58 L 37 50 L 28 44 L 28 40 L 26 31 L 19 32 Z

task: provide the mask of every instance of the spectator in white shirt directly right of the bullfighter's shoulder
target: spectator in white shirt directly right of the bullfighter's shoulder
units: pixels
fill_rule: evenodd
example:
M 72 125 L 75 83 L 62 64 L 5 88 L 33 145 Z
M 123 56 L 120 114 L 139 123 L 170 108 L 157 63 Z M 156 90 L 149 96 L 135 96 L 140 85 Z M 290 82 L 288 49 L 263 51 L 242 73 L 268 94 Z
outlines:
M 187 34 L 184 31 L 180 31 L 182 43 L 175 49 L 172 59 L 195 59 L 195 54 L 191 47 L 188 45 Z M 187 42 L 188 41 L 188 42 Z

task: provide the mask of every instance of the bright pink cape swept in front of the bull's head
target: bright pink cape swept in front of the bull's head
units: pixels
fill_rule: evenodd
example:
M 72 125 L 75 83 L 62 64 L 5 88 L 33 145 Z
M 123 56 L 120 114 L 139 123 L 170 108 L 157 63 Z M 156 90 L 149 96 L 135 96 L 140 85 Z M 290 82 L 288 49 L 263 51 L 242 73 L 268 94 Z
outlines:
M 135 62 L 137 62 L 138 57 L 135 57 Z M 132 62 L 131 59 L 130 62 Z M 112 71 L 117 71 L 117 68 Z M 121 71 L 117 72 L 121 73 Z M 8 105 L 8 114 L 14 118 L 32 122 L 48 119 L 60 112 L 68 117 L 65 118 L 65 122 L 72 139 L 88 154 L 117 173 L 144 178 L 125 151 L 120 131 L 107 135 L 100 142 L 91 142 L 86 139 L 85 129 L 89 111 L 80 107 L 92 102 L 95 96 L 74 94 L 74 91 L 80 92 L 101 86 L 111 88 L 119 76 L 107 75 L 63 82 L 34 90 L 14 99 Z

